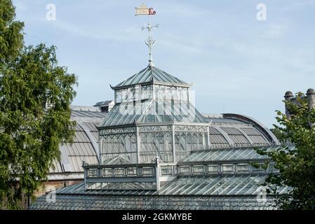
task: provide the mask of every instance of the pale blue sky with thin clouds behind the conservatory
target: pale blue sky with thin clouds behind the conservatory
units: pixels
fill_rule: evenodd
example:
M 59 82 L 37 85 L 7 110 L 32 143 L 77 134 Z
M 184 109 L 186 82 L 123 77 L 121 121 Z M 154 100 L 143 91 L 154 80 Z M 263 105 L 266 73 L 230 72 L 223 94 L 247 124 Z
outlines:
M 114 99 L 148 62 L 147 16 L 131 0 L 13 0 L 27 45 L 57 46 L 78 76 L 73 105 Z M 46 14 L 55 6 L 55 20 Z M 145 1 L 154 8 L 154 64 L 192 83 L 201 113 L 240 113 L 272 127 L 287 90 L 315 88 L 314 0 Z M 257 20 L 257 5 L 266 20 Z

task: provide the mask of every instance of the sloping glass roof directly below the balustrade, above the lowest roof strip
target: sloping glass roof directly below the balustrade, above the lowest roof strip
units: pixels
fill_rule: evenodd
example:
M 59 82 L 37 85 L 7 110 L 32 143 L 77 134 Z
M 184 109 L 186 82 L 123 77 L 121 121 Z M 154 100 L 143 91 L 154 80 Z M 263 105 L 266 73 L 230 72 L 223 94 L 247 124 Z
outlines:
M 182 176 L 166 183 L 161 190 L 84 190 L 84 184 L 78 183 L 57 190 L 58 195 L 220 195 L 244 196 L 257 195 L 259 186 L 267 175 L 212 175 Z M 277 191 L 286 193 L 290 188 L 281 187 Z

